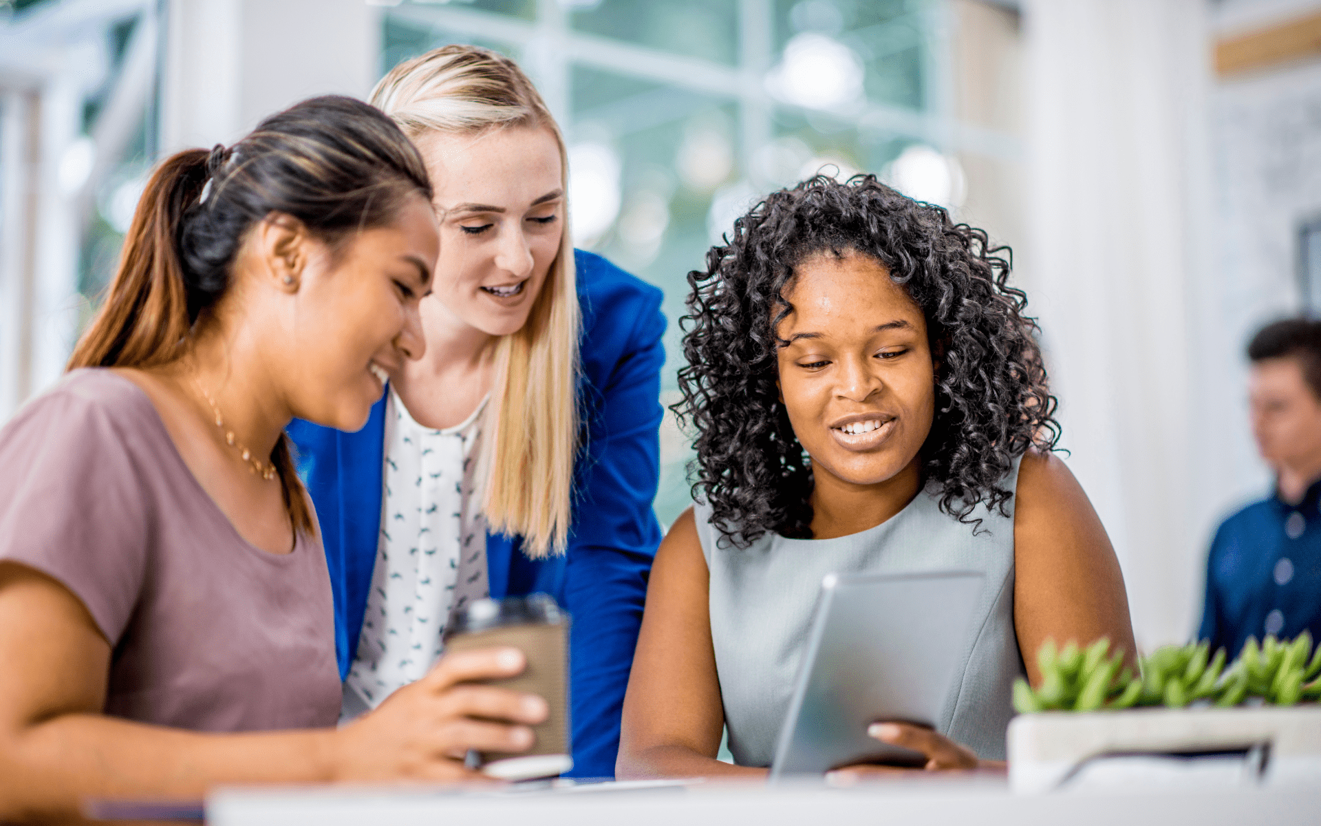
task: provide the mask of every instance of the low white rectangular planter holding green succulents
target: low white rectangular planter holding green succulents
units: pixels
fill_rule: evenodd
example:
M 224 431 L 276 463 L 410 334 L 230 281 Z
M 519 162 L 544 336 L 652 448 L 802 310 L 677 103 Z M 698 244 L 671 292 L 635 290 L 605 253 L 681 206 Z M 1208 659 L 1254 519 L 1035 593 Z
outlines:
M 1009 723 L 1008 749 L 1009 785 L 1021 793 L 1321 784 L 1321 706 L 1021 714 Z M 1227 753 L 1189 759 L 1194 752 Z

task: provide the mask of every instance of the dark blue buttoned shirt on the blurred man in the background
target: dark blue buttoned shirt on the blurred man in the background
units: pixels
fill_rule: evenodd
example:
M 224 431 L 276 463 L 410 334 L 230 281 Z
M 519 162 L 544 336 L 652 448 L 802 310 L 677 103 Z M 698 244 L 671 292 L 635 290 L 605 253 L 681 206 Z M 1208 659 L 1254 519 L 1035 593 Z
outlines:
M 1199 640 L 1234 658 L 1248 637 L 1321 638 L 1321 481 L 1297 505 L 1279 496 L 1226 519 L 1206 563 Z

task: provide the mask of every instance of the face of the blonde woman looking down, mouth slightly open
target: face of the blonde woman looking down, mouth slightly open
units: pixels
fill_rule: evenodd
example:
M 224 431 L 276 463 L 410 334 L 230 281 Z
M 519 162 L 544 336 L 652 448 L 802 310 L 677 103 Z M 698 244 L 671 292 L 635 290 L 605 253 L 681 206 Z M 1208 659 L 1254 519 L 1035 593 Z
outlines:
M 489 336 L 527 322 L 564 234 L 564 169 L 550 130 L 425 132 L 440 260 L 423 320 L 448 313 Z M 429 324 L 428 324 L 429 326 Z

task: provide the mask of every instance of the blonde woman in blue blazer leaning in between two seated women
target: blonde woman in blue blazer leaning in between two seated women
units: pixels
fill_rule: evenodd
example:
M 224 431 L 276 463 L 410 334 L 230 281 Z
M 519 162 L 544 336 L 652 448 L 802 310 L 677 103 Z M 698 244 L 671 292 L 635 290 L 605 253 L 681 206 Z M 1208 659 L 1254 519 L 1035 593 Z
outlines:
M 560 131 L 506 57 L 445 46 L 371 102 L 420 149 L 441 248 L 427 352 L 367 426 L 289 433 L 321 514 L 343 712 L 440 657 L 473 599 L 546 592 L 573 616 L 572 774 L 614 773 L 660 542 L 660 292 L 575 251 Z

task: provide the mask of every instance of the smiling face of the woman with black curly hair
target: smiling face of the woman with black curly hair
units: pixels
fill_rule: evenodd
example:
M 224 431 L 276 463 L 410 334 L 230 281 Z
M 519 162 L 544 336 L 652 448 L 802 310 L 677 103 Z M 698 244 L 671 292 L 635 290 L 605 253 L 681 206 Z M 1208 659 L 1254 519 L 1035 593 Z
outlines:
M 935 415 L 922 308 L 855 251 L 803 259 L 785 297 L 779 393 L 818 485 L 886 482 L 917 460 Z

